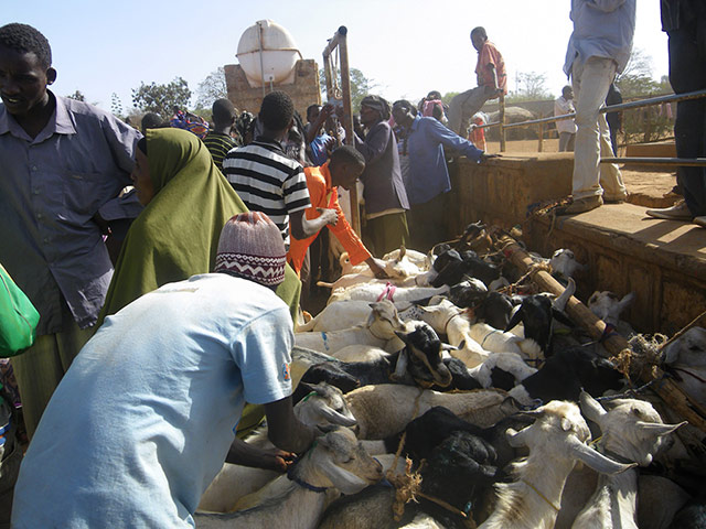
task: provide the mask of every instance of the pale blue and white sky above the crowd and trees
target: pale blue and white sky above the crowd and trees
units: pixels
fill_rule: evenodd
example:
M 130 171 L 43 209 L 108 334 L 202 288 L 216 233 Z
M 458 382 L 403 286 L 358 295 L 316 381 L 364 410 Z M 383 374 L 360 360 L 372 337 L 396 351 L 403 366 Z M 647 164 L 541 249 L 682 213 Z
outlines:
M 218 66 L 237 63 L 240 35 L 264 19 L 289 30 L 302 56 L 319 67 L 327 40 L 345 25 L 351 67 L 389 100 L 475 86 L 478 55 L 469 34 L 477 25 L 503 54 L 511 91 L 517 73 L 534 72 L 546 75 L 546 87 L 558 96 L 571 34 L 569 0 L 0 0 L 0 25 L 28 23 L 49 39 L 56 94 L 78 89 L 110 109 L 116 93 L 126 111 L 141 82 L 181 76 L 195 91 Z M 667 74 L 666 46 L 660 2 L 638 1 L 633 47 L 651 57 L 657 80 Z

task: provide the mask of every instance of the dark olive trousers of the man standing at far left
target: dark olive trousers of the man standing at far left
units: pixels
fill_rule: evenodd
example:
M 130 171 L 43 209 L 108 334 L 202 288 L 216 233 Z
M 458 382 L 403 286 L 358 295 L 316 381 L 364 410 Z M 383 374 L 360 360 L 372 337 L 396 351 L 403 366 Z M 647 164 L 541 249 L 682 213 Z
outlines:
M 63 321 L 64 330 L 61 333 L 38 336 L 32 347 L 11 360 L 20 388 L 22 415 L 30 440 L 54 389 L 81 348 L 96 331 L 95 327 L 79 328 L 68 307 L 64 309 Z M 119 388 L 116 388 L 117 390 Z M 76 402 L 76 406 L 82 403 Z

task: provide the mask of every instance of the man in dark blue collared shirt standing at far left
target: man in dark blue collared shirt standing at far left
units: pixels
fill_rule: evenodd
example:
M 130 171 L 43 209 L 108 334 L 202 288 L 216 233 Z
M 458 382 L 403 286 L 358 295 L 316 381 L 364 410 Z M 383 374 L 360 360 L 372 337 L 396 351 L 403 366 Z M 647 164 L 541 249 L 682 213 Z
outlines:
M 131 185 L 141 134 L 55 96 L 47 89 L 55 79 L 42 33 L 0 28 L 0 261 L 41 316 L 36 342 L 12 360 L 30 436 L 105 301 L 113 263 L 104 214 L 118 219 L 116 208 L 125 217 L 141 209 L 117 198 Z

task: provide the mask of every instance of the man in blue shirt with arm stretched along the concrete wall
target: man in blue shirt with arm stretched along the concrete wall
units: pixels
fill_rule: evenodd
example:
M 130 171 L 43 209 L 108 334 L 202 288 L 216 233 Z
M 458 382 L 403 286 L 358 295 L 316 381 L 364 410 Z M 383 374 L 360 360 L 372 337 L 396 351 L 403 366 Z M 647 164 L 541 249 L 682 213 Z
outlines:
M 403 127 L 403 153 L 409 155 L 407 197 L 409 199 L 409 235 L 416 250 L 427 251 L 447 236 L 445 209 L 451 190 L 443 147 L 453 149 L 477 162 L 495 154 L 485 154 L 473 143 L 447 129 L 435 118 L 415 116 L 407 100 L 393 105 L 395 122 Z

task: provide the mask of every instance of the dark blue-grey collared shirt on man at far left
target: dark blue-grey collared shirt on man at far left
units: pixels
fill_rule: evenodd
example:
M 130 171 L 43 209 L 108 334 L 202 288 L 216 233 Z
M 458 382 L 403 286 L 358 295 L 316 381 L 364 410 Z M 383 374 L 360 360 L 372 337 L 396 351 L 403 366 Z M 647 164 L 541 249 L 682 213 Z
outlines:
M 92 219 L 130 184 L 141 137 L 96 107 L 50 97 L 56 110 L 34 139 L 0 104 L 0 262 L 40 312 L 38 335 L 66 328 L 62 298 L 79 326 L 96 322 L 113 264 Z

